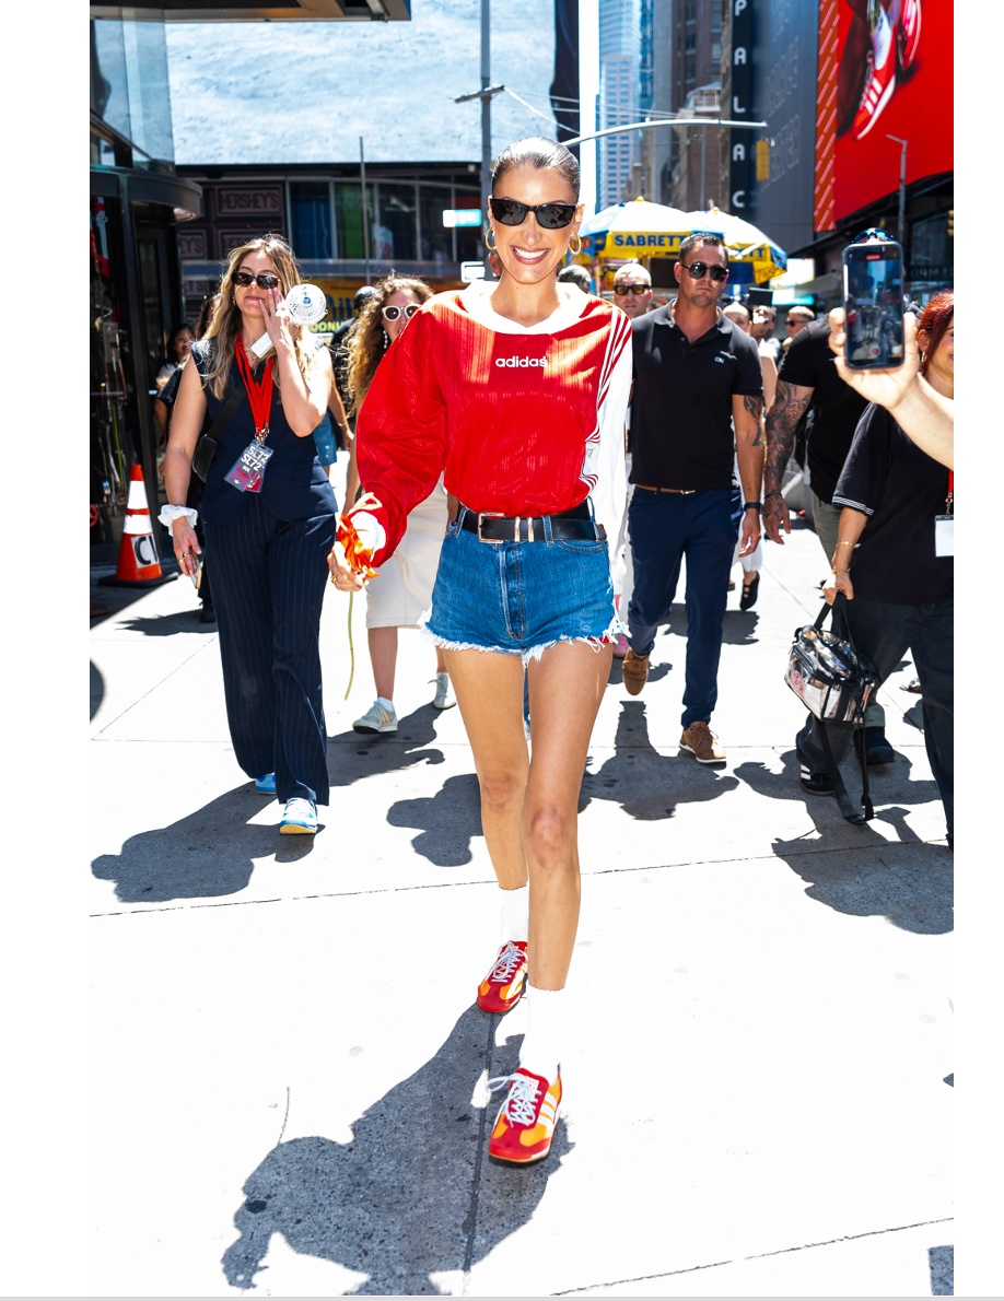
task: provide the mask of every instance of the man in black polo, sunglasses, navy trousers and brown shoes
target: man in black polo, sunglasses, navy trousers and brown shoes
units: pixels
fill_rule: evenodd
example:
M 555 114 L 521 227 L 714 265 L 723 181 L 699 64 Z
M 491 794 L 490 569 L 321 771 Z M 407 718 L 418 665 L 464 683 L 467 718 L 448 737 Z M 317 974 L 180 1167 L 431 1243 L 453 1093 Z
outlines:
M 680 294 L 632 324 L 632 475 L 629 507 L 634 595 L 624 684 L 637 696 L 648 677 L 655 632 L 676 596 L 686 556 L 686 682 L 680 745 L 699 762 L 720 762 L 708 723 L 736 528 L 732 466 L 738 457 L 744 518 L 741 556 L 760 537 L 762 381 L 755 342 L 718 307 L 728 278 L 720 235 L 680 245 Z M 734 435 L 733 435 L 734 423 Z

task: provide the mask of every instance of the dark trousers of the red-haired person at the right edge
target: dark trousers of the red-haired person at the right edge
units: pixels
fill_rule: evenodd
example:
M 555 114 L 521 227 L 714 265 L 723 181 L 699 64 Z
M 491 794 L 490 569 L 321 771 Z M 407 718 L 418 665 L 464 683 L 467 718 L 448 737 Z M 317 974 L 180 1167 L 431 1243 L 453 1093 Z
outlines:
M 900 605 L 856 596 L 844 605 L 856 648 L 867 656 L 884 682 L 909 652 L 921 679 L 923 743 L 931 773 L 944 805 L 948 834 L 955 827 L 955 601 L 930 605 Z M 837 636 L 845 635 L 841 617 L 833 615 Z M 865 716 L 867 725 L 867 714 Z M 850 723 L 827 723 L 833 758 L 846 755 L 854 729 Z M 819 740 L 819 722 L 806 717 L 794 739 L 798 758 L 813 773 L 826 771 L 826 756 Z

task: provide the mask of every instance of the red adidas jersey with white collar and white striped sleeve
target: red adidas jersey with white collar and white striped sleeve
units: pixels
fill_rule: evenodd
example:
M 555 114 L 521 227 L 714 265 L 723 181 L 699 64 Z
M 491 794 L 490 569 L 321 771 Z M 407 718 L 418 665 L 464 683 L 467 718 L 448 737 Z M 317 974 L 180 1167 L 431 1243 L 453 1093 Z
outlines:
M 564 286 L 560 286 L 564 288 Z M 479 285 L 428 299 L 391 345 L 359 411 L 359 480 L 379 506 L 378 565 L 440 474 L 474 511 L 551 515 L 593 497 L 617 537 L 632 329 L 611 303 L 569 289 L 539 325 L 491 310 Z

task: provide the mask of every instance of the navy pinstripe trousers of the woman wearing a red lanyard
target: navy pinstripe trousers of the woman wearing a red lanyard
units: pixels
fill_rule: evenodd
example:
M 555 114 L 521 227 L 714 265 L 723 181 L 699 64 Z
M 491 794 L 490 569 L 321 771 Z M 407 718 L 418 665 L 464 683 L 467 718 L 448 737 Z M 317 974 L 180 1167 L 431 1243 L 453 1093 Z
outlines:
M 249 777 L 275 773 L 284 803 L 328 803 L 318 639 L 333 541 L 333 515 L 285 522 L 258 496 L 232 524 L 206 522 L 233 751 Z

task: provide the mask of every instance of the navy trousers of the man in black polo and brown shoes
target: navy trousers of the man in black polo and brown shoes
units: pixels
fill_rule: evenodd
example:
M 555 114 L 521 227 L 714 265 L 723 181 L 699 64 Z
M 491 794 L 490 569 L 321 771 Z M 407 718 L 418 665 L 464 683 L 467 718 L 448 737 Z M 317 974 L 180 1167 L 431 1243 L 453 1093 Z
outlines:
M 628 509 L 634 593 L 628 606 L 628 640 L 648 654 L 680 582 L 686 556 L 686 675 L 682 725 L 711 721 L 718 700 L 718 662 L 736 526 L 732 492 L 665 493 L 635 488 Z

